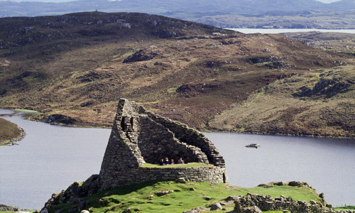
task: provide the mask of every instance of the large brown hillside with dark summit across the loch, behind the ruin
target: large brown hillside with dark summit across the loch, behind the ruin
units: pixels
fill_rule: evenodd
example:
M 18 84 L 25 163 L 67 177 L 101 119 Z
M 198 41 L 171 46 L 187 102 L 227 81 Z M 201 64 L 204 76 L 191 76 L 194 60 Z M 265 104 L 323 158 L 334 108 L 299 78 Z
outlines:
M 351 55 L 283 35 L 144 13 L 1 18 L 0 27 L 0 107 L 35 109 L 44 113 L 37 119 L 69 125 L 110 126 L 124 97 L 189 126 L 221 130 L 210 124 L 214 117 L 275 80 L 352 63 Z M 339 136 L 325 131 L 319 134 Z M 344 132 L 354 137 L 351 128 Z

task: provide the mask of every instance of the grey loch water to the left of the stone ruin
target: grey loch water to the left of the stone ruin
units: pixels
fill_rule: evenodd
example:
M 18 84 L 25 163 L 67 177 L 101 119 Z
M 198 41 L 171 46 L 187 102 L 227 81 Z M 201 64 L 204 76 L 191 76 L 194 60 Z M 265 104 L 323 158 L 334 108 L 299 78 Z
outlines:
M 0 204 L 41 209 L 53 193 L 99 173 L 109 129 L 55 126 L 21 114 L 3 118 L 26 136 L 17 145 L 0 146 Z

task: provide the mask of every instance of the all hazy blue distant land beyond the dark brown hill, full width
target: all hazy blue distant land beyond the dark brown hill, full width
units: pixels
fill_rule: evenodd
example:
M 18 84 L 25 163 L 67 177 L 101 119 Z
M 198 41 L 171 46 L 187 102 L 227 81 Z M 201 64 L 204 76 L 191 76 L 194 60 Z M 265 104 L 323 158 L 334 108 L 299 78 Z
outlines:
M 346 13 L 336 13 L 334 11 L 351 11 L 350 17 L 344 17 Z M 199 0 L 199 1 L 165 1 L 165 0 L 83 0 L 69 1 L 64 3 L 36 2 L 36 1 L 0 1 L 0 17 L 8 16 L 51 16 L 64 13 L 75 13 L 81 11 L 104 11 L 104 12 L 142 12 L 182 18 L 185 20 L 197 21 L 200 23 L 216 24 L 216 26 L 226 26 L 239 28 L 241 24 L 231 21 L 229 16 L 249 16 L 259 17 L 253 19 L 247 27 L 263 27 L 263 21 L 270 22 L 273 19 L 283 20 L 280 16 L 290 16 L 283 23 L 274 23 L 276 28 L 354 28 L 355 2 L 352 0 L 342 0 L 331 4 L 324 4 L 315 0 Z M 307 16 L 307 20 L 302 20 L 304 11 L 312 11 Z M 291 12 L 291 13 L 290 13 Z M 314 14 L 313 14 L 314 12 Z M 318 18 L 322 14 L 323 18 Z M 226 17 L 222 17 L 226 16 Z M 268 19 L 259 20 L 261 16 L 271 16 Z M 212 19 L 223 19 L 222 21 L 208 21 Z M 273 17 L 273 18 L 272 18 Z M 294 18 L 293 18 L 294 17 Z M 345 19 L 343 19 L 343 17 Z M 192 19 L 193 18 L 193 19 Z M 241 18 L 242 20 L 244 18 Z M 327 21 L 336 19 L 338 23 Z M 244 21 L 244 20 L 243 20 Z M 224 22 L 224 23 L 223 23 Z M 250 21 L 249 21 L 250 22 Z M 273 21 L 271 21 L 273 22 Z M 348 23 L 350 22 L 350 23 Z M 245 26 L 244 26 L 245 27 Z

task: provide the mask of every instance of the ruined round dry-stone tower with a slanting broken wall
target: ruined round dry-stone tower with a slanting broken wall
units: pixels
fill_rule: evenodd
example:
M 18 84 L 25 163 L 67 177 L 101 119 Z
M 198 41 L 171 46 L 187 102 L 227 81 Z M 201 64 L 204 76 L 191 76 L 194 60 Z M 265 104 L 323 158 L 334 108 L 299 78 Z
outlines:
M 145 167 L 160 159 L 182 158 L 209 167 Z M 151 180 L 228 182 L 224 159 L 211 141 L 185 124 L 166 119 L 127 99 L 120 99 L 99 173 L 101 189 Z

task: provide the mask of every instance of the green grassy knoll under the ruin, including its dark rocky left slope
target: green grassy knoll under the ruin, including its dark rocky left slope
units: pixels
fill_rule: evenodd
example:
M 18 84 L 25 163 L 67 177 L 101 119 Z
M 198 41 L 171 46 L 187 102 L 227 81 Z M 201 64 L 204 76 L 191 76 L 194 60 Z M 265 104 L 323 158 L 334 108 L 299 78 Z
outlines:
M 268 185 L 266 187 L 266 185 Z M 229 212 L 234 209 L 234 201 L 240 195 L 246 195 L 247 200 L 253 196 L 292 197 L 293 200 L 313 200 L 325 206 L 327 204 L 322 195 L 317 195 L 307 183 L 300 187 L 290 185 L 266 184 L 253 188 L 234 187 L 231 185 L 212 185 L 208 182 L 155 181 L 141 184 L 119 187 L 112 190 L 104 190 L 92 195 L 78 196 L 76 192 L 83 192 L 83 188 L 89 188 L 86 182 L 74 182 L 70 187 L 48 200 L 45 208 L 48 212 L 80 212 L 88 209 L 89 212 L 184 212 L 190 209 L 200 208 L 201 212 L 209 212 L 212 204 L 219 203 L 219 208 L 213 212 Z M 259 195 L 256 195 L 259 194 Z M 268 195 L 268 196 L 263 196 Z M 282 198 L 281 198 L 282 199 Z M 287 198 L 289 199 L 289 198 Z M 241 199 L 243 200 L 243 199 Z M 256 204 L 256 201 L 253 200 Z M 241 202 L 239 200 L 239 202 Z M 270 208 L 271 200 L 268 202 Z M 222 206 L 221 206 L 222 204 Z M 320 205 L 321 206 L 321 205 Z M 260 205 L 259 205 L 260 207 Z M 261 207 L 263 211 L 267 205 Z M 223 208 L 223 209 L 222 209 Z M 285 208 L 286 209 L 286 208 Z M 282 212 L 282 211 L 280 211 Z

